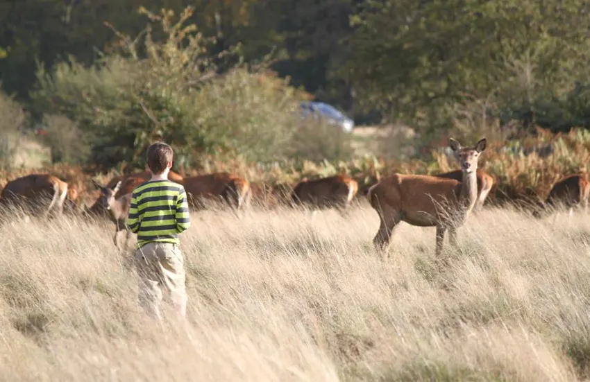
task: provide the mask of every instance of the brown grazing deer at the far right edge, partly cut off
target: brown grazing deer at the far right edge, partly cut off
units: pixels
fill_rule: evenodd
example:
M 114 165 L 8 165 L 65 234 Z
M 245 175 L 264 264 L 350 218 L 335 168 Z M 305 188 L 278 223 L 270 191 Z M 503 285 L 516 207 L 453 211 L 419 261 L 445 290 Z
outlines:
M 536 209 L 533 216 L 541 218 L 543 216 L 541 211 L 547 213 L 548 210 L 555 209 L 559 205 L 566 207 L 570 216 L 573 214 L 574 207 L 580 207 L 586 212 L 589 196 L 590 182 L 587 174 L 579 173 L 562 177 L 553 184 L 540 211 Z

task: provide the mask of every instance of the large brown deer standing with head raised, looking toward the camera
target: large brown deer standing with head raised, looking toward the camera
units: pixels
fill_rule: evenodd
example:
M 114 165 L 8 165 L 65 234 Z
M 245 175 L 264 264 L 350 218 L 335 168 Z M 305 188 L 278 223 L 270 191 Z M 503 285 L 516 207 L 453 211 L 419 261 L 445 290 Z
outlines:
M 417 227 L 437 227 L 436 255 L 441 253 L 447 229 L 451 245 L 456 246 L 457 229 L 466 223 L 478 201 L 478 159 L 486 142 L 481 139 L 474 148 L 464 148 L 450 138 L 450 148 L 461 164 L 461 182 L 432 175 L 397 173 L 371 186 L 367 197 L 381 220 L 373 238 L 376 249 L 387 250 L 401 221 Z

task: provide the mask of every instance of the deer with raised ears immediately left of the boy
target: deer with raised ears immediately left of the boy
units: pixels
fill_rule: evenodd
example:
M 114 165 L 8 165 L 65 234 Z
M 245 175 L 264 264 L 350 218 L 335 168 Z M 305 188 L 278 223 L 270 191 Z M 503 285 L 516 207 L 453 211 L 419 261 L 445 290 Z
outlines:
M 112 241 L 115 243 L 115 247 L 117 249 L 121 249 L 119 247 L 119 241 L 117 240 L 119 236 L 119 232 L 126 230 L 126 238 L 125 238 L 125 248 L 127 248 L 127 243 L 129 241 L 130 236 L 133 232 L 130 231 L 127 227 L 127 216 L 129 214 L 129 209 L 131 206 L 131 196 L 133 192 L 126 193 L 125 195 L 119 196 L 119 198 L 115 198 L 117 195 L 117 191 L 121 188 L 121 184 L 123 181 L 119 180 L 117 184 L 115 184 L 114 189 L 110 189 L 109 187 L 101 186 L 101 184 L 95 182 L 93 180 L 96 187 L 98 187 L 101 191 L 101 196 L 99 199 L 96 200 L 94 205 L 91 209 L 103 209 L 108 213 L 110 220 L 115 223 L 115 236 L 113 236 Z

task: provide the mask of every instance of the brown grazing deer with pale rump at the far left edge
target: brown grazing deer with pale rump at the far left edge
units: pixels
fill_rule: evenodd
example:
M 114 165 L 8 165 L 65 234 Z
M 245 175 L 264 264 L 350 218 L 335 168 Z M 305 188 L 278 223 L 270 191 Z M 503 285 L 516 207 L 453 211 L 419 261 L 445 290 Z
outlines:
M 0 205 L 23 203 L 33 214 L 43 211 L 49 216 L 52 211 L 61 215 L 66 200 L 75 206 L 77 191 L 58 177 L 49 174 L 31 174 L 12 180 L 0 194 Z M 49 203 L 49 205 L 47 205 Z

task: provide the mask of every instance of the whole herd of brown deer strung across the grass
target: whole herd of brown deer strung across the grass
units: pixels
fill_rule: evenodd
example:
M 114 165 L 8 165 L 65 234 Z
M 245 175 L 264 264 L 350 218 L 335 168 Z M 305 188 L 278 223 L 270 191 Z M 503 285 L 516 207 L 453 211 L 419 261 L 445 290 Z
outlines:
M 448 232 L 450 245 L 457 245 L 457 229 L 465 225 L 472 211 L 482 209 L 484 201 L 494 186 L 494 178 L 478 169 L 478 159 L 486 148 L 486 139 L 473 147 L 464 147 L 450 139 L 450 148 L 460 164 L 460 169 L 438 175 L 410 175 L 395 173 L 369 186 L 362 194 L 380 219 L 380 226 L 373 238 L 373 245 L 381 253 L 387 253 L 391 237 L 398 223 L 417 227 L 436 227 L 435 254 L 440 254 Z M 99 196 L 88 208 L 77 205 L 78 191 L 58 177 L 49 174 L 31 174 L 6 184 L 0 194 L 0 207 L 22 203 L 32 212 L 49 216 L 64 211 L 79 211 L 83 216 L 106 217 L 115 223 L 113 241 L 117 248 L 119 233 L 126 232 L 126 243 L 131 232 L 126 229 L 131 193 L 150 178 L 149 171 L 114 177 L 108 184 L 94 182 Z M 269 186 L 251 183 L 244 177 L 230 173 L 210 173 L 183 177 L 170 171 L 169 180 L 183 184 L 189 207 L 205 209 L 208 200 L 219 200 L 238 212 L 248 208 L 256 198 L 276 199 L 290 205 L 311 207 L 313 216 L 319 209 L 335 208 L 346 214 L 358 194 L 358 183 L 348 175 L 336 175 L 321 179 L 303 179 L 294 187 L 285 184 Z M 590 182 L 584 173 L 569 175 L 556 182 L 542 208 L 533 215 L 540 218 L 549 207 L 562 203 L 570 214 L 574 207 L 587 209 Z M 41 202 L 47 198 L 47 202 Z M 49 203 L 49 204 L 48 204 Z

